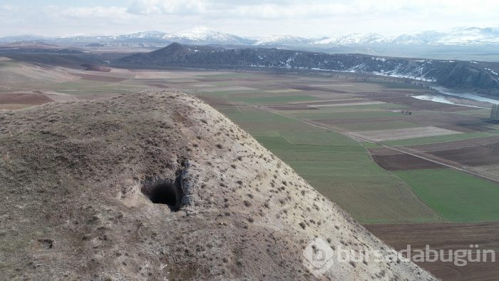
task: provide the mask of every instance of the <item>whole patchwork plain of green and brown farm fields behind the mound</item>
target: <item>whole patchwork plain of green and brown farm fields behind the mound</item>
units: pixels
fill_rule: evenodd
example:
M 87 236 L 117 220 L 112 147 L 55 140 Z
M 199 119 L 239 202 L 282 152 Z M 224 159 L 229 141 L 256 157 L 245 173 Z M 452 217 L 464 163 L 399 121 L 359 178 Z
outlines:
M 197 96 L 359 223 L 374 233 L 379 230 L 391 245 L 412 239 L 385 234 L 400 225 L 409 225 L 408 231 L 416 228 L 413 225 L 435 225 L 437 230 L 453 225 L 445 230 L 453 231 L 499 221 L 499 184 L 490 180 L 499 180 L 499 124 L 488 120 L 483 108 L 412 98 L 431 90 L 402 79 L 351 73 L 128 69 L 102 73 L 0 63 L 4 63 L 0 71 L 12 73 L 0 76 L 0 109 L 147 89 Z M 18 68 L 28 71 L 21 76 Z M 463 171 L 443 168 L 444 164 Z M 492 230 L 484 231 L 487 237 Z M 456 230 L 453 239 L 474 241 L 463 235 L 469 233 Z M 483 238 L 483 245 L 493 237 Z M 432 239 L 422 235 L 418 241 L 429 244 Z M 437 273 L 448 268 L 423 266 Z M 459 273 L 463 280 L 498 270 L 495 265 L 466 268 Z M 455 275 L 442 276 L 453 280 Z

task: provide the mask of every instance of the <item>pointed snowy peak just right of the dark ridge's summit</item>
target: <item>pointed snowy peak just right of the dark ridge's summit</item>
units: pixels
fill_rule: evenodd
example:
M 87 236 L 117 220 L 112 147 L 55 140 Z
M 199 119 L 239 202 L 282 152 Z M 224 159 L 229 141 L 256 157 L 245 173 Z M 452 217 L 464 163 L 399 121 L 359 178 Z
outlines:
M 245 45 L 252 43 L 248 39 L 243 39 L 242 37 L 232 34 L 224 34 L 207 28 L 206 26 L 196 26 L 193 29 L 187 29 L 175 34 L 166 34 L 163 36 L 163 39 L 166 41 L 178 41 L 180 43 L 193 44 Z

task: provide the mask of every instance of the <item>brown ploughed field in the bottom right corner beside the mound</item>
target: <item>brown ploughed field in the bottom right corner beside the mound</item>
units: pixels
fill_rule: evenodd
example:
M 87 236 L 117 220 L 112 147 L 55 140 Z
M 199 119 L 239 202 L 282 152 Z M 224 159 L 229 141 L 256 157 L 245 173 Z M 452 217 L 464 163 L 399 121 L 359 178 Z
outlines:
M 414 250 L 470 250 L 470 245 L 479 245 L 480 250 L 495 250 L 495 262 L 488 255 L 488 262 L 468 262 L 456 266 L 453 262 L 416 262 L 441 278 L 441 280 L 496 280 L 499 275 L 499 223 L 417 223 L 366 225 L 374 235 L 387 241 L 395 250 L 405 250 L 411 245 Z M 476 255 L 473 255 L 476 258 Z

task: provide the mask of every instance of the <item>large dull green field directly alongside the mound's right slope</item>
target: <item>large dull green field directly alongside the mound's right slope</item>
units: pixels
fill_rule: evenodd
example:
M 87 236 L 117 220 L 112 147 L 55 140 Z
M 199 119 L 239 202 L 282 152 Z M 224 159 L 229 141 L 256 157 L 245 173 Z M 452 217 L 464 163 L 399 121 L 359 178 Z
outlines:
M 361 223 L 443 220 L 400 178 L 374 163 L 364 146 L 339 133 L 261 131 L 254 135 L 319 193 Z

